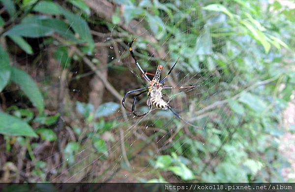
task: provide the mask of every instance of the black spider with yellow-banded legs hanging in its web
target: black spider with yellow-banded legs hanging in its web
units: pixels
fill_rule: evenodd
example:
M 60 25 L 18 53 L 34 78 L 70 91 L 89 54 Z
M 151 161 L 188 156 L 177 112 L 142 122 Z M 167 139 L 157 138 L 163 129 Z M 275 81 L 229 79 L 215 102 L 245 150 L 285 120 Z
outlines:
M 156 73 L 153 74 L 153 73 L 148 73 L 148 72 L 144 72 L 144 70 L 142 69 L 142 67 L 140 66 L 140 64 L 138 63 L 138 61 L 136 60 L 135 56 L 134 56 L 134 53 L 133 53 L 133 49 L 132 49 L 132 44 L 133 42 L 136 41 L 136 38 L 134 38 L 130 43 L 129 43 L 129 51 L 130 51 L 130 54 L 132 56 L 132 58 L 134 59 L 135 61 L 135 64 L 137 65 L 137 67 L 139 68 L 139 70 L 142 72 L 142 77 L 148 82 L 148 85 L 145 86 L 144 88 L 140 88 L 140 89 L 135 89 L 135 90 L 131 90 L 131 91 L 128 91 L 125 96 L 123 97 L 122 99 L 122 105 L 123 107 L 131 112 L 133 115 L 135 115 L 136 117 L 142 117 L 142 116 L 145 116 L 147 115 L 151 109 L 152 109 L 152 106 L 154 106 L 156 109 L 162 109 L 162 110 L 170 110 L 172 111 L 172 113 L 177 116 L 177 118 L 179 118 L 181 121 L 183 121 L 184 123 L 190 125 L 190 126 L 193 126 L 195 128 L 199 128 L 198 126 L 195 126 L 189 122 L 187 122 L 186 120 L 184 120 L 170 105 L 169 105 L 169 102 L 171 99 L 169 99 L 168 101 L 165 101 L 163 99 L 163 96 L 166 96 L 165 94 L 162 94 L 162 90 L 163 89 L 186 89 L 186 88 L 195 88 L 196 86 L 180 86 L 180 87 L 169 87 L 169 86 L 166 86 L 164 85 L 164 82 L 166 81 L 167 77 L 169 76 L 169 74 L 171 73 L 171 71 L 173 70 L 173 68 L 175 67 L 175 65 L 177 64 L 177 62 L 179 61 L 179 58 L 177 58 L 177 61 L 175 62 L 175 64 L 173 64 L 173 66 L 171 67 L 171 69 L 169 70 L 169 72 L 167 73 L 167 75 L 163 78 L 163 79 L 160 79 L 160 76 L 161 76 L 161 71 L 162 71 L 162 68 L 163 68 L 163 65 L 159 64 L 157 66 L 157 70 L 156 70 Z M 153 76 L 152 80 L 150 80 L 148 78 L 148 75 L 151 75 Z M 124 105 L 125 103 L 125 100 L 126 100 L 126 97 L 129 95 L 129 94 L 132 94 L 132 93 L 135 93 L 135 92 L 140 92 L 138 94 L 136 94 L 133 98 L 133 104 L 132 104 L 132 108 L 131 110 L 127 109 Z M 136 104 L 136 100 L 138 98 L 138 96 L 144 94 L 148 92 L 148 100 L 147 100 L 147 105 L 149 106 L 149 111 L 148 112 L 145 112 L 143 114 L 137 114 L 135 112 L 135 104 Z

